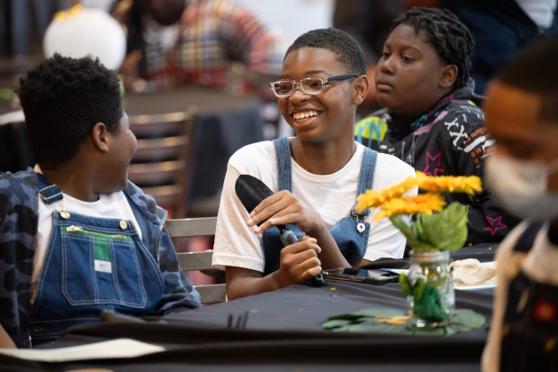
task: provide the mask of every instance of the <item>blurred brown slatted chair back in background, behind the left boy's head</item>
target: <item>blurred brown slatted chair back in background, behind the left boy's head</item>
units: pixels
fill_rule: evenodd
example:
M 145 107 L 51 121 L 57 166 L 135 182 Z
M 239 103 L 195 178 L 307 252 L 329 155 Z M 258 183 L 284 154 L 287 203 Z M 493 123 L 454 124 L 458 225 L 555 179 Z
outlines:
M 188 193 L 187 168 L 196 108 L 184 113 L 130 115 L 138 139 L 128 177 L 171 217 L 184 217 Z

